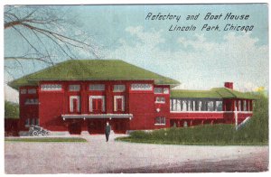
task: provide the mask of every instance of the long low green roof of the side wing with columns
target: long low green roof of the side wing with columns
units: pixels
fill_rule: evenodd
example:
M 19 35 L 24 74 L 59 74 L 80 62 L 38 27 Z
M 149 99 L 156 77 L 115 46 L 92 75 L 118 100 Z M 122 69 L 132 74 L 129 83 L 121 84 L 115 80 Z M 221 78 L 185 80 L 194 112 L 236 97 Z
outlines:
M 215 88 L 210 90 L 172 89 L 171 98 L 240 98 L 256 99 L 251 93 L 239 92 L 228 88 Z

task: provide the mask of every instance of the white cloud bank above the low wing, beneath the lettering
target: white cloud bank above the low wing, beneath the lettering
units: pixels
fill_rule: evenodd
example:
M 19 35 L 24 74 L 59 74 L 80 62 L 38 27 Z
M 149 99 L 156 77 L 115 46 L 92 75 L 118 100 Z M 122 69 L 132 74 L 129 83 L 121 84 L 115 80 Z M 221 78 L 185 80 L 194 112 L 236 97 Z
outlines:
M 143 26 L 127 27 L 126 32 L 136 38 L 134 43 L 119 39 L 119 47 L 107 51 L 107 58 L 178 79 L 182 89 L 222 87 L 224 81 L 233 81 L 242 90 L 268 86 L 268 46 L 258 45 L 251 33 L 224 33 L 220 42 L 196 33 L 194 39 L 176 39 L 180 47 L 173 51 L 172 42 L 164 39 L 168 32 L 146 32 Z

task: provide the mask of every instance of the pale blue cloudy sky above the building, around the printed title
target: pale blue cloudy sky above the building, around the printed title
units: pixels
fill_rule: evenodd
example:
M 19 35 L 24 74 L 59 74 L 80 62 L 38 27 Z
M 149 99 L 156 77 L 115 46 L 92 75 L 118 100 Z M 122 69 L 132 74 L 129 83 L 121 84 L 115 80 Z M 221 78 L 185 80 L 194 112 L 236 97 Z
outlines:
M 75 16 L 79 30 L 89 33 L 105 59 L 121 59 L 161 75 L 178 79 L 182 89 L 221 87 L 235 82 L 241 90 L 268 87 L 267 5 L 70 5 L 58 6 Z M 68 10 L 67 10 L 68 9 Z M 153 14 L 181 15 L 176 21 L 147 21 Z M 204 21 L 205 14 L 249 14 L 247 21 Z M 186 21 L 188 14 L 200 14 Z M 202 32 L 205 23 L 220 32 Z M 225 24 L 254 25 L 250 33 L 223 32 Z M 195 25 L 193 32 L 169 32 L 171 24 Z M 5 55 L 25 50 L 17 34 L 5 30 Z M 93 58 L 78 52 L 79 59 Z M 58 57 L 58 61 L 67 58 Z M 15 62 L 5 62 L 6 66 Z M 23 63 L 27 70 L 11 70 L 15 78 L 40 70 L 44 63 Z M 5 72 L 5 80 L 10 79 Z

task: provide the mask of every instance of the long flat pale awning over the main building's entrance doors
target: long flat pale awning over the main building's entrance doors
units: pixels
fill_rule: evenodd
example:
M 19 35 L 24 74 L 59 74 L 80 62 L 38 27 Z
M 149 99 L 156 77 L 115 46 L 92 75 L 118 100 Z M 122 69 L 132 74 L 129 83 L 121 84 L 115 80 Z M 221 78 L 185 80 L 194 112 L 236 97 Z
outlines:
M 87 115 L 87 114 L 82 114 L 82 115 L 61 115 L 63 119 L 66 118 L 129 118 L 132 119 L 133 115 L 132 114 L 93 114 L 93 115 Z

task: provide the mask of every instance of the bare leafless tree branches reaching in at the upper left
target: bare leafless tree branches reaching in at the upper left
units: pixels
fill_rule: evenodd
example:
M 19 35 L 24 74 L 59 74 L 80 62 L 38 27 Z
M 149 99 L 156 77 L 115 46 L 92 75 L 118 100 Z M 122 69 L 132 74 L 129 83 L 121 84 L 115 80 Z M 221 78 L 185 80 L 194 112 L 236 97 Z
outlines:
M 78 58 L 79 51 L 99 58 L 98 47 L 87 33 L 82 32 L 78 19 L 68 14 L 69 8 L 47 5 L 6 5 L 5 33 L 21 38 L 20 54 L 5 56 L 5 61 L 42 61 L 53 64 L 56 57 Z M 67 15 L 68 14 L 68 15 Z M 18 42 L 17 38 L 8 41 Z M 12 53 L 14 54 L 14 53 Z M 8 69 L 5 66 L 5 69 Z

